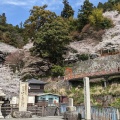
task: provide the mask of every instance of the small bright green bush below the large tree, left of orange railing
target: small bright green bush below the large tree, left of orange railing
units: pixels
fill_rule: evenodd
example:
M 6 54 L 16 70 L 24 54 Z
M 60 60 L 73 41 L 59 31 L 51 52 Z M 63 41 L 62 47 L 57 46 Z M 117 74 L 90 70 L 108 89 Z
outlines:
M 63 76 L 64 75 L 64 67 L 61 67 L 59 65 L 52 66 L 51 74 L 53 77 Z

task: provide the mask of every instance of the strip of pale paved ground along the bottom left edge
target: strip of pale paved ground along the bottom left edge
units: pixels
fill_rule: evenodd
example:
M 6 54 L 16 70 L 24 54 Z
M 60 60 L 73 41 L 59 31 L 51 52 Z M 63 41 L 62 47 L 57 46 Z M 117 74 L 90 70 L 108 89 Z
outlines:
M 5 119 L 0 119 L 5 120 Z M 15 118 L 9 118 L 7 120 L 16 120 Z M 63 120 L 63 116 L 48 116 L 48 117 L 39 117 L 39 118 L 22 118 L 17 120 Z

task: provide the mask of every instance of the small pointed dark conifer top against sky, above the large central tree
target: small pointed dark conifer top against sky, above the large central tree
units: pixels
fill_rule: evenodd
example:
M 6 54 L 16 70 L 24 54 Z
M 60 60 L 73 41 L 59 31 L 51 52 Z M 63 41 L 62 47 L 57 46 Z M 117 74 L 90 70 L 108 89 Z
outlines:
M 67 0 L 63 0 L 64 8 L 61 12 L 61 17 L 63 18 L 70 18 L 74 16 L 74 10 L 69 5 L 69 2 Z

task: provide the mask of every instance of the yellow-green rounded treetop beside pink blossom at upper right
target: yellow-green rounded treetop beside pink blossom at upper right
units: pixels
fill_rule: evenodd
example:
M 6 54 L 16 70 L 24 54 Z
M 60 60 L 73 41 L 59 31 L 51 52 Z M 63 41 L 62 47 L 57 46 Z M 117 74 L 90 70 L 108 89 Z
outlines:
M 89 16 L 90 24 L 95 26 L 96 28 L 110 28 L 113 25 L 112 21 L 108 18 L 105 18 L 102 14 L 102 9 L 94 9 L 92 11 L 92 14 Z

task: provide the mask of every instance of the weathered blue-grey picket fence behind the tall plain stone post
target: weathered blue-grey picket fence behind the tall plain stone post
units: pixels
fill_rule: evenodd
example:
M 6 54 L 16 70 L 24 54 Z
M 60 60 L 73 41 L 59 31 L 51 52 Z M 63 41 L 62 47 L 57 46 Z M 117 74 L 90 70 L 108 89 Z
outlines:
M 66 112 L 66 104 L 61 104 L 60 112 L 63 114 Z M 85 118 L 85 107 L 76 106 L 76 111 L 81 114 L 82 119 Z M 91 119 L 92 120 L 118 120 L 117 109 L 113 107 L 98 108 L 91 107 Z

